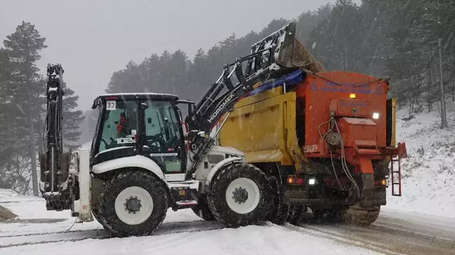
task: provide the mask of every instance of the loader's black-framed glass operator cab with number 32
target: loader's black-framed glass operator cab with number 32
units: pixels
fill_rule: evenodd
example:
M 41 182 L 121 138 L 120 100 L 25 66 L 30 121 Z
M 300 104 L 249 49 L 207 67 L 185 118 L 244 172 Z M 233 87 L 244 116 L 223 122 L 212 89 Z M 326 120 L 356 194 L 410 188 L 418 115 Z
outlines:
M 141 155 L 154 160 L 164 174 L 186 170 L 185 141 L 178 97 L 133 93 L 99 95 L 90 165 Z

